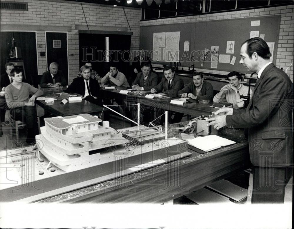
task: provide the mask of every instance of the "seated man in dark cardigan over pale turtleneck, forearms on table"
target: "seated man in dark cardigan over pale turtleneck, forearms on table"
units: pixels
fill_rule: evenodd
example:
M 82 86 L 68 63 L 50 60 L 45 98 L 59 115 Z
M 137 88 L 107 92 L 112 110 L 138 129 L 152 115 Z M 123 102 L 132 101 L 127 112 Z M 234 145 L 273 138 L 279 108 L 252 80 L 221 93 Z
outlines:
M 178 97 L 189 97 L 192 99 L 213 99 L 213 87 L 211 83 L 204 81 L 201 72 L 196 72 L 193 76 L 193 82 L 189 83 L 184 89 L 178 92 Z

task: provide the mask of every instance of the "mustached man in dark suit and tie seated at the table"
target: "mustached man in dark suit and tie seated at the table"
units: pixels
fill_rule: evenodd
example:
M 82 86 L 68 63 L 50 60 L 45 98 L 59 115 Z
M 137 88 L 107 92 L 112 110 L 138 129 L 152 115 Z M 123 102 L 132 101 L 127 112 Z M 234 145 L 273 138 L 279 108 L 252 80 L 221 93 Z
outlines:
M 161 93 L 164 92 L 170 97 L 176 97 L 178 91 L 184 88 L 184 81 L 180 76 L 176 75 L 175 68 L 173 66 L 165 66 L 163 68 L 164 77 L 162 77 L 160 83 L 151 89 L 151 93 Z M 164 110 L 161 110 L 164 113 Z M 183 118 L 183 113 L 175 112 L 173 119 L 171 118 L 171 112 L 169 112 L 170 123 L 181 122 Z M 163 125 L 164 116 L 161 116 L 161 125 Z

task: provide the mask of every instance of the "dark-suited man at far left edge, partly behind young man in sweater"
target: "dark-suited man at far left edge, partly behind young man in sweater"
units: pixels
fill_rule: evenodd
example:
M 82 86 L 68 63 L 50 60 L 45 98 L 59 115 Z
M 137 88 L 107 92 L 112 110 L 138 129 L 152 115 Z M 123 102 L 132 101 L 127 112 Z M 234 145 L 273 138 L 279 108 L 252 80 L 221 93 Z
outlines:
M 5 70 L 6 70 L 6 73 L 2 74 L 1 75 L 1 78 L 0 78 L 0 88 L 1 88 L 1 91 L 5 91 L 5 88 L 13 82 L 13 79 L 12 79 L 12 70 L 14 69 L 14 65 L 13 63 L 6 63 L 5 64 Z M 5 113 L 6 113 L 6 110 L 7 110 L 7 105 L 6 105 L 6 100 L 5 100 L 5 96 L 1 96 L 0 97 L 0 121 L 1 121 L 1 124 L 0 124 L 0 136 L 2 136 L 3 134 L 3 131 L 2 131 L 2 124 L 4 124 L 5 122 Z

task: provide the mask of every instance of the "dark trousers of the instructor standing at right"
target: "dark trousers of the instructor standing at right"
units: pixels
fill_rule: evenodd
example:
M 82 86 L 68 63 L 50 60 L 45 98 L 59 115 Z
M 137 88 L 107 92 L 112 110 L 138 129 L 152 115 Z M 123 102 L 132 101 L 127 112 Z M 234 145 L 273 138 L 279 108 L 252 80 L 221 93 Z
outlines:
M 251 203 L 284 203 L 285 186 L 291 178 L 292 168 L 253 166 Z

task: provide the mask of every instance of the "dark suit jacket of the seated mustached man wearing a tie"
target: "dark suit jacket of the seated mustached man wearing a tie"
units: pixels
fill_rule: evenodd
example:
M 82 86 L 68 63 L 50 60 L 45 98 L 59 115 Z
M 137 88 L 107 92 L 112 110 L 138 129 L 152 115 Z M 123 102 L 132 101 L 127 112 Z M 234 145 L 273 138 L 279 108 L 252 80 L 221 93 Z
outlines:
M 168 94 L 169 96 L 176 97 L 178 94 L 178 91 L 184 88 L 184 81 L 180 78 L 180 76 L 176 75 L 173 77 L 173 80 L 171 81 L 171 87 L 168 90 L 168 80 L 163 76 L 161 78 L 160 83 L 154 87 L 156 90 L 156 93 L 161 93 L 162 90 L 164 93 Z

